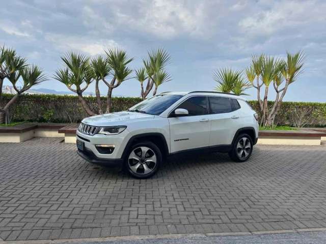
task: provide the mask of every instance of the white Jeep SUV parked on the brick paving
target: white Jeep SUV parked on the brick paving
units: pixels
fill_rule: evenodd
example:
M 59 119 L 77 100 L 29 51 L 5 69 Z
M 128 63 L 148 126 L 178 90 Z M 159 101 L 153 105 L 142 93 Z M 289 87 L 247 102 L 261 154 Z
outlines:
M 127 111 L 83 119 L 77 153 L 100 165 L 153 175 L 168 156 L 229 153 L 246 161 L 258 139 L 258 115 L 242 98 L 216 92 L 161 93 Z

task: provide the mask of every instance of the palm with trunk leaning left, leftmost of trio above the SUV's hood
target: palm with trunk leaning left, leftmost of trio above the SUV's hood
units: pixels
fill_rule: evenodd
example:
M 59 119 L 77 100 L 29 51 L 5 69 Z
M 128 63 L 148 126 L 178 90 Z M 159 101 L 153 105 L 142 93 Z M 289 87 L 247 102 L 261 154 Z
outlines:
M 64 83 L 69 90 L 77 94 L 80 103 L 82 103 L 88 115 L 96 115 L 83 97 L 83 92 L 85 92 L 93 82 L 93 77 L 95 77 L 94 71 L 90 66 L 89 57 L 69 52 L 62 56 L 61 60 L 64 68 L 58 69 L 53 78 Z

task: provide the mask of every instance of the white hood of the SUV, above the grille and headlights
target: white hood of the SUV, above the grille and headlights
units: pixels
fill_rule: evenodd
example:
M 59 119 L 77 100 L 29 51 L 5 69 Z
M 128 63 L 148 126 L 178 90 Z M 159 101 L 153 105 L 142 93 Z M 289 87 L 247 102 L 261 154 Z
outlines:
M 154 115 L 138 112 L 116 112 L 84 118 L 83 123 L 91 126 L 124 126 L 138 120 L 152 119 Z

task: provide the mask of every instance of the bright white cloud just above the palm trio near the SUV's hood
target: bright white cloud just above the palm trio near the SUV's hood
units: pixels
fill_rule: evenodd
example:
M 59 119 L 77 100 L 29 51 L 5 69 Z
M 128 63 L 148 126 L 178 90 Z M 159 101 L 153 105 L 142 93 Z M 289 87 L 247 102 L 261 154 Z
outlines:
M 101 54 L 108 48 L 119 46 L 114 40 L 98 40 L 50 33 L 45 35 L 45 40 L 50 42 L 60 51 L 82 51 L 90 55 Z

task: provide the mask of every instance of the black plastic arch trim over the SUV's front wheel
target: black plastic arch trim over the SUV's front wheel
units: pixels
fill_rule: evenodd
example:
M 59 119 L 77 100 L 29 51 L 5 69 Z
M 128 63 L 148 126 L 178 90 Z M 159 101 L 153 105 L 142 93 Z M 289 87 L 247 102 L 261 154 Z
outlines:
M 141 142 L 141 141 L 153 142 L 161 150 L 162 156 L 164 158 L 169 155 L 169 147 L 168 147 L 168 143 L 167 143 L 165 136 L 158 132 L 152 132 L 152 133 L 143 133 L 143 134 L 138 134 L 138 135 L 132 136 L 128 140 L 128 142 L 123 150 L 122 158 L 124 159 L 126 157 L 126 154 L 128 153 L 130 147 L 134 143 Z

